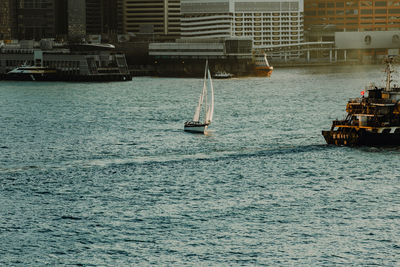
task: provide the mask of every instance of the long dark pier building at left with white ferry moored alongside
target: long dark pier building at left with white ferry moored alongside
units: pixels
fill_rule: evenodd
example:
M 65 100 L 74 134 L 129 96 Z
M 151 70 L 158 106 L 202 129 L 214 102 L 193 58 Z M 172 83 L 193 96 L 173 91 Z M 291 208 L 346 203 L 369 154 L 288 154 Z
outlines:
M 107 44 L 76 44 L 54 48 L 0 49 L 0 80 L 106 82 L 130 81 L 125 55 Z

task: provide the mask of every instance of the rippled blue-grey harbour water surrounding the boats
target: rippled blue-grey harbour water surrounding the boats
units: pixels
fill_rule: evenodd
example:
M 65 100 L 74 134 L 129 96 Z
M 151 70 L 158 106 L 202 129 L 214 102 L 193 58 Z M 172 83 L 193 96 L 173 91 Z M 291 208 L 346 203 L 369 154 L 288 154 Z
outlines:
M 380 66 L 0 82 L 0 266 L 399 266 L 400 148 L 321 130 Z

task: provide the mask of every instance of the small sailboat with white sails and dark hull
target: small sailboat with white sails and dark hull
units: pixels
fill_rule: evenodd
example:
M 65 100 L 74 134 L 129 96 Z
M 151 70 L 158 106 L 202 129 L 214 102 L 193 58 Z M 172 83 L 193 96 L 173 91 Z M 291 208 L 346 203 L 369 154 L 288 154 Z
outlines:
M 208 102 L 208 91 L 211 91 L 211 101 Z M 204 71 L 203 90 L 194 112 L 193 120 L 185 122 L 184 130 L 193 133 L 205 133 L 211 124 L 214 113 L 214 86 L 212 84 L 208 61 Z M 203 116 L 201 116 L 203 115 Z M 203 117 L 201 120 L 200 117 Z

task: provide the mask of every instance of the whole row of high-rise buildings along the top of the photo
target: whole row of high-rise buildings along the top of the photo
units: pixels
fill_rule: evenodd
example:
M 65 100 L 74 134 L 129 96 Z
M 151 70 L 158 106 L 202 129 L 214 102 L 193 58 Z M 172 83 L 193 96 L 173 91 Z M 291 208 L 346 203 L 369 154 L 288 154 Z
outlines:
M 298 12 L 297 22 L 292 21 L 293 12 Z M 245 14 L 252 18 L 244 18 Z M 78 23 L 82 27 L 80 35 L 247 36 L 254 39 L 256 46 L 278 45 L 313 38 L 329 41 L 333 36 L 330 32 L 338 31 L 399 30 L 400 1 L 3 0 L 0 3 L 1 39 L 76 35 L 73 28 Z M 315 37 L 320 31 L 325 34 Z

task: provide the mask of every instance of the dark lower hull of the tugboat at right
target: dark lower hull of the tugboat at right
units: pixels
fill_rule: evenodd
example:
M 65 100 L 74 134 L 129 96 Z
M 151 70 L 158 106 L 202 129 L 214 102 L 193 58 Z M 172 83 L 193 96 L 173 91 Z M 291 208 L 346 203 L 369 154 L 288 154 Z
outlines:
M 400 133 L 374 133 L 365 130 L 346 132 L 322 131 L 325 141 L 338 146 L 399 146 Z

